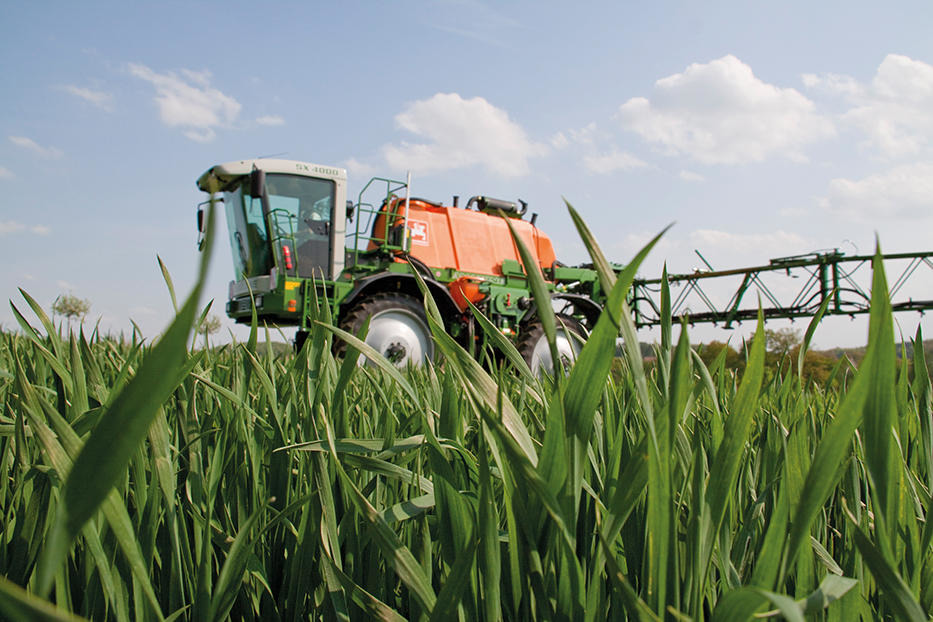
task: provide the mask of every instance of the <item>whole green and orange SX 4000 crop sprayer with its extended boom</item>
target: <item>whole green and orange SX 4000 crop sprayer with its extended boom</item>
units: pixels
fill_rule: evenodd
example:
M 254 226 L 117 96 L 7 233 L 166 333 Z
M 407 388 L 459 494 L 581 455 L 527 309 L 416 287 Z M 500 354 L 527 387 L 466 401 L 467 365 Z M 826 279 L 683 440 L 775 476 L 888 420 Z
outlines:
M 447 331 L 464 345 L 477 338 L 470 303 L 477 306 L 515 344 L 534 371 L 551 368 L 551 351 L 536 317 L 525 266 L 505 215 L 534 256 L 562 325 L 560 356 L 572 358 L 579 340 L 596 323 L 605 301 L 592 266 L 557 261 L 550 238 L 527 219 L 527 204 L 474 196 L 460 207 L 409 196 L 410 180 L 373 178 L 356 201 L 347 200 L 344 169 L 305 162 L 256 159 L 212 167 L 198 187 L 222 198 L 227 217 L 234 272 L 227 314 L 249 322 L 253 305 L 261 320 L 296 326 L 300 348 L 313 322 L 315 301 L 333 305 L 344 330 L 357 334 L 368 321 L 366 342 L 399 366 L 433 357 L 433 342 L 414 273 L 430 290 Z M 222 194 L 222 197 L 217 197 Z M 199 211 L 199 229 L 203 213 Z M 671 275 L 675 318 L 731 326 L 753 319 L 762 300 L 767 318 L 813 315 L 830 298 L 827 313 L 855 315 L 868 311 L 867 287 L 856 279 L 870 256 L 838 251 L 772 260 L 770 264 Z M 895 310 L 924 311 L 933 300 L 897 300 L 906 282 L 933 253 L 885 256 L 907 266 L 892 288 Z M 705 260 L 704 260 L 705 262 Z M 616 269 L 622 266 L 615 265 Z M 792 300 L 772 291 L 767 279 L 803 276 Z M 739 284 L 725 306 L 703 289 L 708 279 L 735 278 Z M 630 304 L 636 325 L 661 321 L 659 279 L 638 279 Z M 759 296 L 746 296 L 756 291 Z M 743 306 L 743 300 L 745 305 Z M 695 308 L 695 309 L 694 309 Z

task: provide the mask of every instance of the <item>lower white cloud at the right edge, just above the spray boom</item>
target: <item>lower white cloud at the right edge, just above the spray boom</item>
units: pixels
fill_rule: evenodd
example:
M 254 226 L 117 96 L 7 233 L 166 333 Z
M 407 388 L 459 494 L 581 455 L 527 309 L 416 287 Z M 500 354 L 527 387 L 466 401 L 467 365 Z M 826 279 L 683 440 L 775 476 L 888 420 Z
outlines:
M 845 218 L 920 220 L 933 214 L 933 162 L 898 166 L 858 181 L 833 179 L 820 205 Z

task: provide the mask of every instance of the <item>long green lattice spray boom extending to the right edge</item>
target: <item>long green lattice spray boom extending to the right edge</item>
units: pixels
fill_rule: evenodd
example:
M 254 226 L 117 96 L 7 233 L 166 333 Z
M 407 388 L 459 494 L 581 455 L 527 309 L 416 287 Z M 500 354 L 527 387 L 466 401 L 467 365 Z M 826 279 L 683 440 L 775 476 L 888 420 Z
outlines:
M 933 309 L 929 297 L 933 273 L 922 269 L 933 270 L 933 252 L 882 258 L 889 275 L 895 274 L 893 267 L 897 270 L 897 278 L 889 280 L 893 310 Z M 671 314 L 675 320 L 686 317 L 691 324 L 732 328 L 736 322 L 755 320 L 759 299 L 766 319 L 794 319 L 815 315 L 827 298 L 827 315 L 868 313 L 872 259 L 872 255 L 846 256 L 836 250 L 772 259 L 768 265 L 752 268 L 669 275 Z M 659 325 L 661 279 L 636 279 L 632 289 L 636 325 Z M 727 303 L 718 302 L 730 291 Z

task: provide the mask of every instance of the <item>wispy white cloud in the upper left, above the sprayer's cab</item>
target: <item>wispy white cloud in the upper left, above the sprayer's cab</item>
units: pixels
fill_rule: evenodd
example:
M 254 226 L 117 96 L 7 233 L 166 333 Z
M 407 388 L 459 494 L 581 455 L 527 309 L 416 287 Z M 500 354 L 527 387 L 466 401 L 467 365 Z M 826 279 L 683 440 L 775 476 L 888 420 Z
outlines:
M 240 114 L 240 103 L 210 85 L 210 72 L 187 69 L 156 73 L 144 65 L 131 64 L 130 73 L 156 89 L 159 117 L 169 127 L 185 129 L 185 136 L 209 142 L 216 128 L 229 127 Z

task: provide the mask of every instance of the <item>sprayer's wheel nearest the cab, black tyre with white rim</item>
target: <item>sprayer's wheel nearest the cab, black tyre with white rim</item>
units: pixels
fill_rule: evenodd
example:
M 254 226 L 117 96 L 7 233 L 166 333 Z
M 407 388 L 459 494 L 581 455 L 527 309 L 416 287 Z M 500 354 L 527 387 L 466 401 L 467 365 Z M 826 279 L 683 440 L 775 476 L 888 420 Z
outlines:
M 397 292 L 363 298 L 350 308 L 340 328 L 356 335 L 367 319 L 366 343 L 396 367 L 420 365 L 434 358 L 434 341 L 424 305 L 418 299 Z M 346 344 L 340 349 L 345 351 Z

